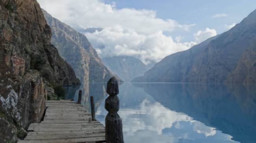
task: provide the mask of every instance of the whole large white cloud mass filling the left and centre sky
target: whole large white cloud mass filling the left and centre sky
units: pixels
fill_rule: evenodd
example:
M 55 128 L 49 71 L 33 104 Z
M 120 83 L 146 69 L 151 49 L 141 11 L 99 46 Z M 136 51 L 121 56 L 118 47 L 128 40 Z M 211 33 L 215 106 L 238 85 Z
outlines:
M 115 8 L 115 3 L 100 0 L 37 0 L 52 16 L 76 28 L 100 27 L 86 33 L 101 57 L 127 55 L 142 62 L 159 62 L 165 56 L 189 49 L 195 42 L 174 42 L 162 31 L 189 31 L 195 24 L 181 25 L 176 20 L 156 17 L 156 11 Z M 105 47 L 102 49 L 102 47 Z

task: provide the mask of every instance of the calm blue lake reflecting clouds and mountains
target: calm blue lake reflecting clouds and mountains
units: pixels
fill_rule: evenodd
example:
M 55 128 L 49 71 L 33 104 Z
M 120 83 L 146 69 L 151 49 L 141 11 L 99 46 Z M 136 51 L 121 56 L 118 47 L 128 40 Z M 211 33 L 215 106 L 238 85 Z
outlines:
M 67 98 L 105 125 L 106 83 L 69 88 Z M 125 143 L 255 143 L 256 85 L 202 83 L 122 83 L 120 110 Z

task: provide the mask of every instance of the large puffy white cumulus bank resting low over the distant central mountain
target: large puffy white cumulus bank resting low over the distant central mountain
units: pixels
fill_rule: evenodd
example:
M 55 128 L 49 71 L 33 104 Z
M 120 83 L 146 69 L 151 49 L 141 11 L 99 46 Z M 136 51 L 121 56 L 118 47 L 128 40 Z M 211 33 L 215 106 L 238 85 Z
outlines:
M 134 56 L 145 64 L 158 62 L 169 54 L 184 51 L 196 44 L 174 42 L 173 38 L 165 36 L 162 31 L 139 34 L 121 26 L 107 27 L 100 32 L 86 33 L 86 36 L 102 57 Z

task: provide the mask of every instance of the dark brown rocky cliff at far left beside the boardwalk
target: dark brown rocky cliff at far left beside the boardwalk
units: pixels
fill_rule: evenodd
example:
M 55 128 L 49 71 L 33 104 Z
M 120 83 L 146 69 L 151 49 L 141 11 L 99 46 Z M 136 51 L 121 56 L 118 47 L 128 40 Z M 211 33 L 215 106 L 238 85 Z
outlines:
M 76 85 L 72 68 L 50 44 L 51 30 L 36 0 L 0 1 L 0 142 L 17 141 L 41 121 L 44 81 Z

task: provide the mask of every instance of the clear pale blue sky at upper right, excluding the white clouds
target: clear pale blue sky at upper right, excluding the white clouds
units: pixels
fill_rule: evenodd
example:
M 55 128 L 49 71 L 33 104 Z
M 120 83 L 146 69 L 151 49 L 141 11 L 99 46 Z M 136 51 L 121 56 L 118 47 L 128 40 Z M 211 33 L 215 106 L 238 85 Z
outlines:
M 225 25 L 239 23 L 256 9 L 256 0 L 105 0 L 107 4 L 115 2 L 117 9 L 151 9 L 157 17 L 174 19 L 180 24 L 196 24 L 190 32 L 173 32 L 167 35 L 184 35 L 183 42 L 193 40 L 193 33 L 206 27 L 215 29 L 217 34 L 227 31 Z M 214 14 L 226 14 L 226 17 L 212 18 Z M 186 35 L 186 36 L 185 36 Z

